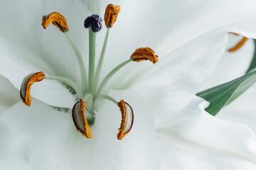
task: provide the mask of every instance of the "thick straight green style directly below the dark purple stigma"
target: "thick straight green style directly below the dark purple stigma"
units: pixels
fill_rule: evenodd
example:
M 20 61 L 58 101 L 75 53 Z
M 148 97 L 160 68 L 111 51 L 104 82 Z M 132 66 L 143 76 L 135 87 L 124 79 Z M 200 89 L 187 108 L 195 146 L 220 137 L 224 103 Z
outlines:
M 89 92 L 93 94 L 94 92 L 94 74 L 95 74 L 95 39 L 96 33 L 89 28 Z

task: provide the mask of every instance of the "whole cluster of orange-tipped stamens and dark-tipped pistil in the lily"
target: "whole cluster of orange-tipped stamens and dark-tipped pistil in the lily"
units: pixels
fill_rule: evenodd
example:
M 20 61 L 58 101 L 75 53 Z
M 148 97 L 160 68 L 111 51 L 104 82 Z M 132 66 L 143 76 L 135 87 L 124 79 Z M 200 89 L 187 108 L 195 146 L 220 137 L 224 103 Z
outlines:
M 110 32 L 110 28 L 112 28 L 114 22 L 117 21 L 119 9 L 120 6 L 114 6 L 112 4 L 108 5 L 106 8 L 105 25 L 107 26 L 107 33 L 105 35 L 105 40 L 102 46 L 102 52 L 100 54 L 100 59 L 97 63 L 96 69 L 95 40 L 96 33 L 100 31 L 102 28 L 102 18 L 100 18 L 100 16 L 97 15 L 92 15 L 85 19 L 84 26 L 89 30 L 88 74 L 86 73 L 83 57 L 80 54 L 77 45 L 75 45 L 73 38 L 71 38 L 71 36 L 68 33 L 68 24 L 64 16 L 57 12 L 53 12 L 50 13 L 49 15 L 43 16 L 43 28 L 47 28 L 50 25 L 50 23 L 53 23 L 53 25 L 59 28 L 61 32 L 65 33 L 66 37 L 70 42 L 70 45 L 72 45 L 80 67 L 81 84 L 73 81 L 72 79 L 68 79 L 67 77 L 51 76 L 48 74 L 44 74 L 43 72 L 28 74 L 28 76 L 23 79 L 23 83 L 21 84 L 22 101 L 27 106 L 31 105 L 30 89 L 31 85 L 34 82 L 42 81 L 43 79 L 50 79 L 60 81 L 63 84 L 67 84 L 73 89 L 73 91 L 75 91 L 75 96 L 77 96 L 77 98 L 79 99 L 79 101 L 75 103 L 75 105 L 73 106 L 72 110 L 72 117 L 75 124 L 75 128 L 77 128 L 77 130 L 87 138 L 92 137 L 89 125 L 93 124 L 95 121 L 95 113 L 93 108 L 95 101 L 102 99 L 112 101 L 112 103 L 119 107 L 122 113 L 122 122 L 119 128 L 119 132 L 117 134 L 117 139 L 122 140 L 124 136 L 127 135 L 129 131 L 132 129 L 132 125 L 134 123 L 134 112 L 132 110 L 132 107 L 129 106 L 128 103 L 124 102 L 124 100 L 117 102 L 114 98 L 108 96 L 106 85 L 111 80 L 113 75 L 116 74 L 120 69 L 122 69 L 122 67 L 129 64 L 129 62 L 140 62 L 143 60 L 149 60 L 155 64 L 156 62 L 158 62 L 158 56 L 155 55 L 154 51 L 151 50 L 151 48 L 149 47 L 138 48 L 137 50 L 135 50 L 135 52 L 128 60 L 117 65 L 117 67 L 114 67 L 114 69 L 112 69 L 106 75 L 106 77 L 102 79 L 102 81 L 100 82 L 100 75 L 102 74 L 102 65 L 105 58 L 108 35 Z M 85 117 L 85 109 L 88 113 L 90 113 L 90 117 Z

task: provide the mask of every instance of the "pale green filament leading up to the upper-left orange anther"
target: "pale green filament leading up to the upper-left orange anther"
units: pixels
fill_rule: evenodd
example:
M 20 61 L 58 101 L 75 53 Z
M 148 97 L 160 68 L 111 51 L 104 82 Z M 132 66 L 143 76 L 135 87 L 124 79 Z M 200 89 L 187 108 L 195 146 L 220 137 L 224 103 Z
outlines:
M 85 93 L 85 91 L 87 91 L 87 88 L 86 88 L 86 86 L 87 86 L 87 84 L 86 84 L 87 76 L 86 76 L 86 71 L 85 71 L 85 64 L 82 61 L 82 56 L 81 56 L 80 51 L 78 50 L 77 45 L 75 45 L 75 42 L 70 37 L 70 35 L 68 34 L 67 31 L 65 31 L 65 35 L 67 36 L 70 44 L 72 45 L 73 50 L 75 51 L 75 55 L 78 59 L 78 64 L 79 64 L 79 67 L 80 67 L 81 80 L 82 80 L 82 92 Z

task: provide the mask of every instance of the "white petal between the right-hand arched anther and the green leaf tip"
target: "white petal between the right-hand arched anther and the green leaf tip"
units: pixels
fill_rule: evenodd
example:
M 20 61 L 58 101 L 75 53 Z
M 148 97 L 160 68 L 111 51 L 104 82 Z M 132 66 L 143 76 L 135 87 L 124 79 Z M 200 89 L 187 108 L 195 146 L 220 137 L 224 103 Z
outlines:
M 197 38 L 173 52 L 171 56 L 177 57 L 169 65 L 161 66 L 165 62 L 159 60 L 161 69 L 134 85 L 134 89 L 151 103 L 156 126 L 169 122 L 173 114 L 191 101 L 203 82 L 210 77 L 224 52 L 225 43 L 225 33 Z

